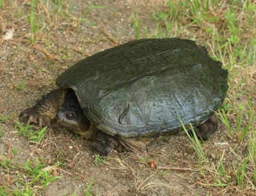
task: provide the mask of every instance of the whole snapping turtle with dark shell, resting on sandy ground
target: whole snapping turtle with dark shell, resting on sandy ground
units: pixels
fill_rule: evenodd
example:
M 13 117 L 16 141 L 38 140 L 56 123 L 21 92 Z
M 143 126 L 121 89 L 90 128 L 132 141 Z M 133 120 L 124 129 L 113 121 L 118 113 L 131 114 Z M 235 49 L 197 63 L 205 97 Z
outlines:
M 59 88 L 24 110 L 20 121 L 42 127 L 57 119 L 94 140 L 101 155 L 111 149 L 134 151 L 180 132 L 180 119 L 206 140 L 217 129 L 214 110 L 227 93 L 227 76 L 195 41 L 131 41 L 61 73 Z

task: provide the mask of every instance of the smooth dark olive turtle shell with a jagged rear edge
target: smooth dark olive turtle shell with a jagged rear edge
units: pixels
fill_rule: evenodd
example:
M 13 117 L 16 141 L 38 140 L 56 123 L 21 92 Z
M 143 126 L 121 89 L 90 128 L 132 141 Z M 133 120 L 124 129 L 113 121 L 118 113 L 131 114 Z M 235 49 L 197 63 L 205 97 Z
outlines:
M 195 41 L 143 39 L 86 57 L 56 84 L 109 135 L 154 138 L 203 123 L 227 93 L 227 70 Z

